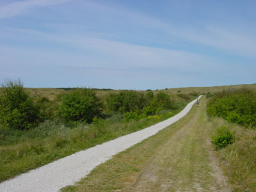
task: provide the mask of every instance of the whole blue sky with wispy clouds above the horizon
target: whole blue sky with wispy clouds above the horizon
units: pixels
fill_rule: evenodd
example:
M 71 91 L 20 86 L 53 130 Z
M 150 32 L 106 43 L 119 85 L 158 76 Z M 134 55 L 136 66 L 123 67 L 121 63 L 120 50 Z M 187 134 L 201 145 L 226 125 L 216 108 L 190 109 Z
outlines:
M 252 84 L 256 1 L 0 1 L 0 81 L 163 89 Z

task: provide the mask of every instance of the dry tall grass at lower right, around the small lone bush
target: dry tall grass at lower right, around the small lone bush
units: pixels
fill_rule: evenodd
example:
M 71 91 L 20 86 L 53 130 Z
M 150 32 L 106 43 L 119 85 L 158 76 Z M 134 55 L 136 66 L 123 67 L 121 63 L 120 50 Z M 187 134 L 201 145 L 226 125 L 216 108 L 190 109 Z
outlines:
M 216 149 L 233 191 L 256 191 L 256 130 L 228 124 L 222 118 L 211 118 L 211 130 L 228 127 L 235 141 L 225 148 Z

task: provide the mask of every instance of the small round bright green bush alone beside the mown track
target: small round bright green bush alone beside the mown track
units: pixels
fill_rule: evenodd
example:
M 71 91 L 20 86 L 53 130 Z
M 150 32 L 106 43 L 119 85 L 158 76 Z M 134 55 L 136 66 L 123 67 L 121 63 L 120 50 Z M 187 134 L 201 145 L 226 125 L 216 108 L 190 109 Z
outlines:
M 214 136 L 212 137 L 212 143 L 219 148 L 226 147 L 228 144 L 234 142 L 234 136 L 227 127 L 220 127 L 216 129 Z

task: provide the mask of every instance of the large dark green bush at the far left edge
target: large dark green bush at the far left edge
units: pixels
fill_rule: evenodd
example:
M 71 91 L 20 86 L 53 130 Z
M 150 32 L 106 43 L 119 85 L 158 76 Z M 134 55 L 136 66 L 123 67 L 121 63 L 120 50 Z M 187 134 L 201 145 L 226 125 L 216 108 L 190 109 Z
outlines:
M 1 84 L 0 124 L 10 129 L 30 129 L 44 120 L 32 97 L 25 92 L 20 80 Z

